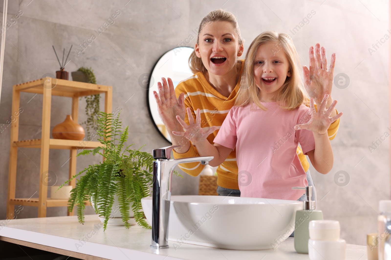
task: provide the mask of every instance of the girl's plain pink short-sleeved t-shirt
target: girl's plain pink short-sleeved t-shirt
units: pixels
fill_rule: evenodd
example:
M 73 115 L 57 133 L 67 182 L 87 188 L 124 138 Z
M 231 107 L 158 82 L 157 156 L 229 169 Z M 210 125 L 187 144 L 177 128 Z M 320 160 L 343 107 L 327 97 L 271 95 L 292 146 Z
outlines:
M 284 110 L 277 102 L 257 106 L 233 106 L 213 140 L 234 149 L 238 164 L 241 197 L 297 200 L 308 185 L 296 154 L 298 143 L 304 154 L 315 149 L 312 131 L 294 130 L 310 120 L 310 109 L 301 105 Z

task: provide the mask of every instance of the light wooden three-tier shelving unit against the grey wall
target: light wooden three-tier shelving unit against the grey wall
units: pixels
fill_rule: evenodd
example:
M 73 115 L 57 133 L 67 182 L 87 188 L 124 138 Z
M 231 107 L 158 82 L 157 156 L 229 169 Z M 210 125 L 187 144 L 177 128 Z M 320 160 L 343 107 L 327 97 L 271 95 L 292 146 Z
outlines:
M 50 138 L 50 107 L 52 96 L 72 97 L 72 118 L 78 122 L 79 97 L 94 94 L 105 94 L 104 111 L 111 113 L 113 88 L 111 86 L 96 85 L 78 81 L 52 79 L 50 77 L 13 86 L 12 115 L 16 115 L 20 108 L 20 92 L 38 93 L 43 95 L 42 107 L 42 134 L 41 139 L 18 140 L 19 119 L 11 123 L 11 144 L 9 154 L 7 218 L 14 218 L 14 205 L 38 207 L 38 218 L 46 217 L 47 207 L 66 207 L 68 200 L 47 198 L 47 178 L 45 172 L 49 169 L 49 150 L 70 150 L 69 178 L 76 174 L 77 149 L 93 149 L 101 145 L 98 141 L 77 141 Z M 40 148 L 41 161 L 39 166 L 39 194 L 38 198 L 15 198 L 16 191 L 16 164 L 19 148 Z M 75 180 L 69 185 L 75 187 Z M 88 202 L 86 202 L 88 204 Z M 72 215 L 68 212 L 68 216 Z

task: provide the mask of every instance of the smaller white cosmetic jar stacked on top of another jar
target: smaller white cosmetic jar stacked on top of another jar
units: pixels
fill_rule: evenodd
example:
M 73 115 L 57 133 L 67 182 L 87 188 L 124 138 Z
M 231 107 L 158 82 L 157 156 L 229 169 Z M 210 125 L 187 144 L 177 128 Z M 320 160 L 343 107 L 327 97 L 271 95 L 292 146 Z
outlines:
M 341 227 L 336 220 L 312 220 L 308 224 L 310 239 L 323 241 L 337 241 Z

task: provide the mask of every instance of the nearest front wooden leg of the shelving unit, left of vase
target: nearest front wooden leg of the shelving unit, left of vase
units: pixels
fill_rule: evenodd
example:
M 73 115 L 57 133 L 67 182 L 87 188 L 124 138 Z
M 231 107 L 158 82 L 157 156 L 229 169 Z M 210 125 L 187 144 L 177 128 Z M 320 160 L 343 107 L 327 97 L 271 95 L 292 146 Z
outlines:
M 46 217 L 49 170 L 50 106 L 52 104 L 52 81 L 45 81 L 43 87 L 41 163 L 39 166 L 38 218 Z

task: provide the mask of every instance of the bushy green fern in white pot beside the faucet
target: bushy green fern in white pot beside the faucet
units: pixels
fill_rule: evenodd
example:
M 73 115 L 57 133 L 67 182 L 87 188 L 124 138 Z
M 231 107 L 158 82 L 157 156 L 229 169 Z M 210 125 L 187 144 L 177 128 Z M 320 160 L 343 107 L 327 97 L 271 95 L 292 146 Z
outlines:
M 89 200 L 91 203 L 92 199 L 95 212 L 98 216 L 104 217 L 103 227 L 106 230 L 114 196 L 118 195 L 119 211 L 126 228 L 131 226 L 127 221 L 130 219 L 129 210 L 133 202 L 132 211 L 136 222 L 150 229 L 151 226 L 144 218 L 141 199 L 149 196 L 154 159 L 151 154 L 141 152 L 142 147 L 137 150 L 129 149 L 133 144 L 123 150 L 129 127 L 125 127 L 122 131 L 122 122 L 119 121 L 120 112 L 117 117 L 104 112 L 99 112 L 99 116 L 97 134 L 101 137 L 98 141 L 102 143 L 102 146 L 93 150 L 83 150 L 77 156 L 90 153 L 94 156 L 100 154 L 105 157 L 105 160 L 88 166 L 63 184 L 85 173 L 78 179 L 75 188 L 71 191 L 68 211 L 72 212 L 74 206 L 77 205 L 77 218 L 83 224 L 86 207 L 84 202 Z

